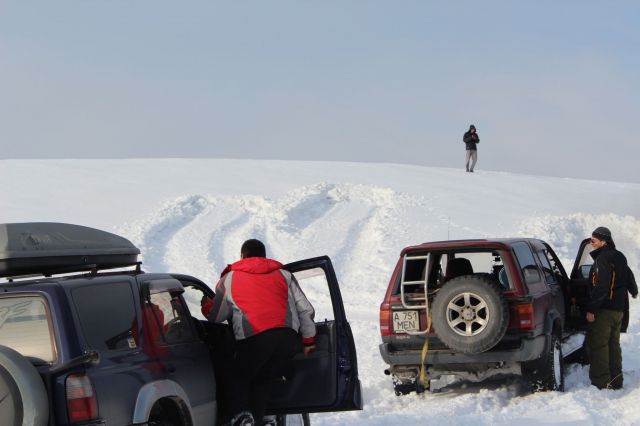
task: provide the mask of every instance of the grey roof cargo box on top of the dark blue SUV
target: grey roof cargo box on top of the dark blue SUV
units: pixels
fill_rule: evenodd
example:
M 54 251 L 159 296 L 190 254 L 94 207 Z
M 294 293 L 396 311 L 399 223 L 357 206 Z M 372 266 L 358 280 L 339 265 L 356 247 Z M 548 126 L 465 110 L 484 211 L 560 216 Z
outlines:
M 135 265 L 140 250 L 110 232 L 67 223 L 0 224 L 0 277 Z

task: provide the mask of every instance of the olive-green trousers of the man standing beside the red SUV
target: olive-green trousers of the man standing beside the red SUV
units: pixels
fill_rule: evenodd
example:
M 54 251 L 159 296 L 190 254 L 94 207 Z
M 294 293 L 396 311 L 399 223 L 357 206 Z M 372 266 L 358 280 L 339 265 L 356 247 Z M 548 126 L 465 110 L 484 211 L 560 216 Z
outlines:
M 587 328 L 587 350 L 591 365 L 589 378 L 598 388 L 622 387 L 622 350 L 620 325 L 622 312 L 601 309 Z

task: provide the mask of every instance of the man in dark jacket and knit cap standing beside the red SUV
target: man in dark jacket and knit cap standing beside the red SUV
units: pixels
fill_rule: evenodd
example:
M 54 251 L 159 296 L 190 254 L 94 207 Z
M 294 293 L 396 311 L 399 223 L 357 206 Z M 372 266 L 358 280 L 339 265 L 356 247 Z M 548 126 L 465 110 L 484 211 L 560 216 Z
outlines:
M 621 389 L 620 327 L 629 293 L 634 299 L 638 297 L 638 286 L 627 259 L 616 250 L 608 228 L 596 228 L 591 234 L 591 245 L 594 263 L 586 309 L 587 349 L 591 361 L 589 378 L 598 389 Z

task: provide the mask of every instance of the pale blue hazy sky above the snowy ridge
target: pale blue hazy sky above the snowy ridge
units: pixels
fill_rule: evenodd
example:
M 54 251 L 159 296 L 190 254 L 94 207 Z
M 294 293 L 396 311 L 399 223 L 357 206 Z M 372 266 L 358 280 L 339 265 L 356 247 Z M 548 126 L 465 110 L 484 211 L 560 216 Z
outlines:
M 640 182 L 640 2 L 0 0 L 0 158 Z

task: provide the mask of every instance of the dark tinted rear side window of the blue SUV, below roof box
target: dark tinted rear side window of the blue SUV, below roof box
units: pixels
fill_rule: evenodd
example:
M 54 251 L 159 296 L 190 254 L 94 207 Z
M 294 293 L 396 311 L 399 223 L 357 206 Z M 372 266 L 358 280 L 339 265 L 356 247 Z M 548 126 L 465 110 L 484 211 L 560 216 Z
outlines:
M 135 348 L 135 305 L 129 282 L 91 284 L 71 291 L 80 326 L 90 349 Z

